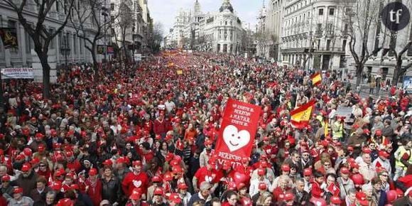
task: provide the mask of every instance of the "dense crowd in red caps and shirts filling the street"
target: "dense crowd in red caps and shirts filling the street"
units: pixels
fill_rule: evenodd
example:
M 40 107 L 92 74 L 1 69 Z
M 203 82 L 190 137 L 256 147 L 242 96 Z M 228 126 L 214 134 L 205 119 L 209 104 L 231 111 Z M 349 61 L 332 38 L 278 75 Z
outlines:
M 7 80 L 0 205 L 412 205 L 411 96 L 362 98 L 335 72 L 312 85 L 314 72 L 173 50 L 73 65 L 49 99 Z M 214 150 L 229 98 L 262 108 L 235 167 Z M 308 126 L 293 128 L 312 99 Z

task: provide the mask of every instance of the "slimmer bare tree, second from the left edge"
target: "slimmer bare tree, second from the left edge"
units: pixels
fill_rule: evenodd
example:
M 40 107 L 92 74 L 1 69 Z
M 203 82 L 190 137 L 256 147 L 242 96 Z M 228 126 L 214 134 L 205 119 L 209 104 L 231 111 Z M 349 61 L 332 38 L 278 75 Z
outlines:
M 107 8 L 104 8 L 104 2 L 104 0 L 84 0 L 82 1 L 82 6 L 74 9 L 73 15 L 76 16 L 75 20 L 70 18 L 77 36 L 86 42 L 85 48 L 89 50 L 92 55 L 94 70 L 97 69 L 97 42 L 104 38 L 112 21 L 114 21 L 114 19 L 108 19 L 109 21 L 107 21 L 108 13 L 105 12 Z M 101 21 L 101 13 L 104 16 L 103 22 Z M 92 38 L 86 35 L 87 33 L 90 33 L 89 31 L 94 31 L 92 33 Z

